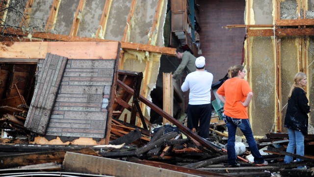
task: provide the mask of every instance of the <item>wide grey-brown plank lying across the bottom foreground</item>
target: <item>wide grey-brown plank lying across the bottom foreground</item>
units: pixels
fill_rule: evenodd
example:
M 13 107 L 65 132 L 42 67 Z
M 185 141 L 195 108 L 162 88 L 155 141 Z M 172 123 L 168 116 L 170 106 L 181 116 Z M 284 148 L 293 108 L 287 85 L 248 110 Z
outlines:
M 116 177 L 196 177 L 148 165 L 67 152 L 63 161 L 65 172 L 111 175 Z

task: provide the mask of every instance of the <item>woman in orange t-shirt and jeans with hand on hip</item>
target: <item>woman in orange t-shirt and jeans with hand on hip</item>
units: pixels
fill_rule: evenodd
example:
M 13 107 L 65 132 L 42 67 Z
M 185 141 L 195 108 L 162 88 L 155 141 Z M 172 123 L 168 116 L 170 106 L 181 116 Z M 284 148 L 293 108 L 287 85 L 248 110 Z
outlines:
M 228 164 L 229 167 L 240 166 L 236 161 L 235 132 L 239 127 L 251 149 L 256 166 L 268 165 L 257 148 L 251 129 L 246 107 L 250 104 L 253 92 L 249 83 L 244 80 L 245 69 L 235 65 L 228 69 L 231 79 L 225 81 L 217 90 L 217 97 L 225 103 L 223 119 L 228 128 Z

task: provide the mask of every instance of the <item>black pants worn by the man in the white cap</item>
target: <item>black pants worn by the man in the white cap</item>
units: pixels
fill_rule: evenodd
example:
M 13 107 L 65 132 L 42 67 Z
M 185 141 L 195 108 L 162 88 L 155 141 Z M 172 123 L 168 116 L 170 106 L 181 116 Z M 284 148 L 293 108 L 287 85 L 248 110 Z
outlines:
M 209 138 L 209 123 L 211 118 L 211 104 L 188 105 L 187 107 L 187 127 L 197 130 L 200 122 L 199 135 L 202 138 Z

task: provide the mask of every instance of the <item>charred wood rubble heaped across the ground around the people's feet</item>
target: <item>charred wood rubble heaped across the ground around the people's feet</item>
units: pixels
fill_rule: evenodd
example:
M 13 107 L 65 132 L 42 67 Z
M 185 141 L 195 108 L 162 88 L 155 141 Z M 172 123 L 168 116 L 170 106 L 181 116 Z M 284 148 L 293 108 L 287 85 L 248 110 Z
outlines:
M 314 157 L 311 154 L 311 146 L 314 145 L 314 135 L 305 137 L 304 157 L 286 152 L 288 145 L 287 133 L 269 133 L 265 138 L 257 141 L 261 153 L 268 166 L 256 167 L 249 148 L 245 145 L 245 140 L 237 136 L 236 142 L 241 142 L 244 148 L 238 154 L 240 167 L 228 168 L 227 153 L 225 145 L 228 140 L 228 130 L 225 122 L 221 120 L 216 112 L 212 115 L 210 123 L 210 137 L 205 140 L 196 133 L 184 126 L 185 120 L 180 122 L 162 111 L 156 105 L 137 94 L 142 78 L 141 73 L 131 71 L 118 71 L 116 96 L 113 103 L 113 111 L 110 127 L 110 145 L 30 145 L 29 141 L 39 135 L 24 127 L 29 111 L 22 95 L 0 100 L 1 121 L 0 126 L 1 142 L 0 160 L 2 176 L 8 174 L 42 173 L 43 174 L 76 174 L 76 176 L 86 176 L 85 173 L 98 176 L 117 176 L 120 171 L 125 171 L 126 164 L 132 164 L 135 170 L 141 165 L 161 168 L 164 173 L 167 170 L 177 171 L 179 176 L 190 174 L 190 176 L 280 176 L 280 174 L 309 174 L 311 169 L 294 169 L 298 166 L 314 167 Z M 17 88 L 17 87 L 16 87 Z M 131 89 L 134 88 L 134 89 Z M 128 102 L 133 99 L 132 105 Z M 139 106 L 139 101 L 151 107 L 160 116 L 168 119 L 171 125 L 154 127 L 143 115 Z M 124 109 L 131 112 L 131 120 L 121 118 Z M 133 119 L 132 119 L 133 117 Z M 145 122 L 143 127 L 135 125 L 138 117 Z M 123 120 L 121 120 L 123 119 Z M 49 122 L 48 122 L 49 124 Z M 313 127 L 309 127 L 312 132 Z M 24 137 L 24 138 L 21 138 Z M 61 137 L 62 138 L 62 137 Z M 71 138 L 71 137 L 68 137 Z M 285 155 L 291 155 L 304 159 L 302 162 L 284 164 Z M 107 163 L 117 163 L 120 166 L 107 165 L 106 168 L 115 169 L 113 171 L 99 172 L 93 165 L 85 164 L 84 160 L 72 162 L 69 159 L 90 159 L 104 161 Z M 107 159 L 110 158 L 110 159 Z M 115 161 L 118 160 L 118 161 Z M 98 165 L 103 166 L 99 163 Z M 142 166 L 141 166 L 142 167 Z M 148 167 L 147 167 L 148 168 Z M 83 169 L 83 170 L 81 170 Z M 103 168 L 105 169 L 105 167 Z M 119 171 L 119 173 L 117 173 Z M 180 173 L 179 173 L 180 172 Z M 302 172 L 302 173 L 297 173 Z M 127 173 L 126 171 L 124 173 Z M 141 170 L 135 174 L 143 173 Z M 152 171 L 153 173 L 153 171 Z

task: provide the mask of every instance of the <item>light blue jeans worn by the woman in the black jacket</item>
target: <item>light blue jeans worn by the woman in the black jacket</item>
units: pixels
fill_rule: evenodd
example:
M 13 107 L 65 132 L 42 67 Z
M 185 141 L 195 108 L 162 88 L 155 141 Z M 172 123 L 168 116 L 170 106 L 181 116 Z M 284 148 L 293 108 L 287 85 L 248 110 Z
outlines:
M 301 131 L 292 130 L 288 128 L 288 135 L 289 135 L 289 144 L 287 147 L 287 152 L 294 153 L 294 148 L 296 146 L 296 154 L 304 156 L 304 135 Z M 286 155 L 285 156 L 285 163 L 290 163 L 292 161 L 292 157 Z M 303 161 L 302 159 L 296 159 L 296 161 Z

